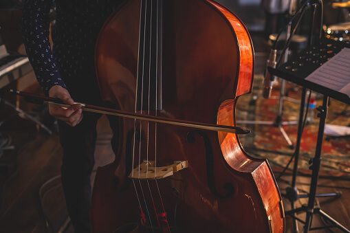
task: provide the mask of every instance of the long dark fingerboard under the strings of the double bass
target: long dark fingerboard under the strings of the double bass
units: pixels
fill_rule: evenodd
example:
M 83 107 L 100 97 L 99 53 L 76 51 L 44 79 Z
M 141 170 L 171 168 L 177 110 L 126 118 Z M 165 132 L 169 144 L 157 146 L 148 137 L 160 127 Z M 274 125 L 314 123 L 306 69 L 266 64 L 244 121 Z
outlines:
M 138 111 L 162 109 L 161 41 L 162 0 L 142 0 L 136 104 Z

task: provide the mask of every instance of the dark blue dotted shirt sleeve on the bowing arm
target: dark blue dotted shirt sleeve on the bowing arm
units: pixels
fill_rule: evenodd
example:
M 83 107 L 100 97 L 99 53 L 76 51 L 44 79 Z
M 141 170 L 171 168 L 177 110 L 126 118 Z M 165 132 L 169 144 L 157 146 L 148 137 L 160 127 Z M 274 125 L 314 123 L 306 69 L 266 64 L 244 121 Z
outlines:
M 46 96 L 54 85 L 65 87 L 49 40 L 51 5 L 52 0 L 25 0 L 21 19 L 25 50 Z

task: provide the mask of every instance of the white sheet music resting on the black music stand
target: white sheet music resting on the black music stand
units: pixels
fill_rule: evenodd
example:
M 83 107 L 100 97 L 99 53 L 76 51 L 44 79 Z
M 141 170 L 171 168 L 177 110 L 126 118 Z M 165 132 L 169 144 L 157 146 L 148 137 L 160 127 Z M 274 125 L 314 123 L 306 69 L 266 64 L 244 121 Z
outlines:
M 344 47 L 305 80 L 347 94 L 350 97 L 350 49 Z

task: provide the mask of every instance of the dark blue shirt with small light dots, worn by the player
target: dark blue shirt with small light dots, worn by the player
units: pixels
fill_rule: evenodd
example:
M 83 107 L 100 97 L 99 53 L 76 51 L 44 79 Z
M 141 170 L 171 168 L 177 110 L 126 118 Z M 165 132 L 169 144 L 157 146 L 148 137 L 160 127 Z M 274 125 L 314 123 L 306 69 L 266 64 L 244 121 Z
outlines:
M 95 85 L 98 32 L 120 0 L 56 0 L 56 23 L 49 41 L 52 0 L 24 0 L 23 42 L 45 95 L 54 85 Z M 69 89 L 69 88 L 68 88 Z M 74 88 L 73 88 L 74 89 Z

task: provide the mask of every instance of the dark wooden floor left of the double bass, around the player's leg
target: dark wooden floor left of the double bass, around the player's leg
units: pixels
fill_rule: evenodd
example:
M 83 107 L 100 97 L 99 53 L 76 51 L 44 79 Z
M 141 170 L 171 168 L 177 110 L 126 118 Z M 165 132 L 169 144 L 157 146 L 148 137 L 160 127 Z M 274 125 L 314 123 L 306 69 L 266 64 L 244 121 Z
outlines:
M 0 175 L 0 232 L 45 232 L 45 216 L 50 230 L 58 232 L 68 218 L 61 187 L 62 148 L 58 135 L 30 129 L 28 122 L 17 120 L 25 126 L 1 131 L 12 137 L 14 150 L 0 158 L 0 166 L 8 167 L 10 174 L 8 177 L 5 170 Z M 102 118 L 98 124 L 96 168 L 113 161 L 110 140 L 108 120 Z M 67 225 L 65 232 L 74 232 L 72 226 Z

